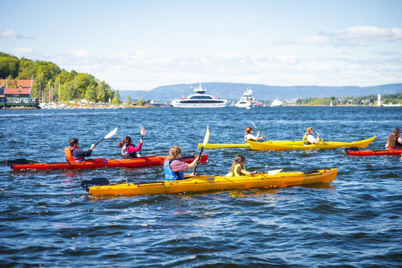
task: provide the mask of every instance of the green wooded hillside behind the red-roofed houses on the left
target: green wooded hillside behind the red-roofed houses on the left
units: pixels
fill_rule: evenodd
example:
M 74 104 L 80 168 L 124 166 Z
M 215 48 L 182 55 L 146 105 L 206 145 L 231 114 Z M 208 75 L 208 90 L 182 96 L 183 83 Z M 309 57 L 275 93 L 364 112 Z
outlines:
M 53 86 L 53 101 L 85 99 L 93 102 L 120 103 L 119 91 L 91 74 L 68 72 L 51 61 L 33 61 L 0 51 L 0 78 L 10 81 L 8 87 L 16 87 L 16 79 L 34 78 L 31 96 L 39 99 L 39 88 L 45 92 L 41 102 L 49 102 L 49 87 Z M 60 94 L 59 94 L 60 88 Z

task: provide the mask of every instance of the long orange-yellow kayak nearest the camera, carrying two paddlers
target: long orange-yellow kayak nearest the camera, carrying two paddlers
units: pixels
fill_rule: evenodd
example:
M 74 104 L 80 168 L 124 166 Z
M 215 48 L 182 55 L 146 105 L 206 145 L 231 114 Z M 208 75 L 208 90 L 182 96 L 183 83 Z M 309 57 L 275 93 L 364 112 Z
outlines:
M 90 186 L 87 192 L 94 196 L 115 194 L 170 194 L 190 191 L 227 190 L 246 188 L 286 187 L 318 182 L 332 182 L 337 169 L 314 170 L 308 172 L 279 172 L 274 175 L 257 173 L 251 176 L 196 176 L 186 180 L 137 182 Z

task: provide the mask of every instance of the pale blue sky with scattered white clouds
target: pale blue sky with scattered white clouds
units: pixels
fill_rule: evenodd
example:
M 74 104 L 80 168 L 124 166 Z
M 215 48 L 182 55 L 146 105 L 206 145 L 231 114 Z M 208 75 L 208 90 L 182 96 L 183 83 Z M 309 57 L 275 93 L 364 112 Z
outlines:
M 402 83 L 402 1 L 2 0 L 0 51 L 116 90 Z

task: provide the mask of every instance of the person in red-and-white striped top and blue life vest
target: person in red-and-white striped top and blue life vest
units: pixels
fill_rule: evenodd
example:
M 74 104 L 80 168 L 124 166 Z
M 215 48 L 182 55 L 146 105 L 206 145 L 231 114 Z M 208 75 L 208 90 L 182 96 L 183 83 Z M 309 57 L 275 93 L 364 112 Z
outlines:
M 163 170 L 165 172 L 165 180 L 184 180 L 186 176 L 195 176 L 194 172 L 191 174 L 184 174 L 186 169 L 192 169 L 197 164 L 199 156 L 193 162 L 187 164 L 181 161 L 181 148 L 173 145 L 169 150 L 169 155 L 165 159 Z

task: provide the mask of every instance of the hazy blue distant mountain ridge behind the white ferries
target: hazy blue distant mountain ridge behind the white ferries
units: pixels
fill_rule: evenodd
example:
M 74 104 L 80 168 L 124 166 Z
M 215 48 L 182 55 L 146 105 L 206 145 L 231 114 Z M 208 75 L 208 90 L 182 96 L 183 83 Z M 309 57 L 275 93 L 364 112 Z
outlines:
M 152 99 L 159 101 L 169 101 L 182 96 L 194 93 L 199 83 L 178 84 L 169 86 L 159 86 L 152 90 L 121 90 L 119 91 L 122 100 L 130 95 L 131 100 L 137 98 Z M 310 97 L 346 97 L 346 96 L 366 96 L 381 94 L 396 94 L 402 92 L 402 84 L 387 84 L 380 86 L 267 86 L 258 84 L 236 84 L 236 83 L 202 83 L 206 88 L 206 94 L 224 98 L 228 100 L 239 100 L 246 88 L 251 87 L 253 96 L 258 101 L 269 101 L 274 98 L 279 100 L 289 100 L 292 98 Z

